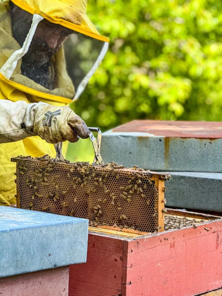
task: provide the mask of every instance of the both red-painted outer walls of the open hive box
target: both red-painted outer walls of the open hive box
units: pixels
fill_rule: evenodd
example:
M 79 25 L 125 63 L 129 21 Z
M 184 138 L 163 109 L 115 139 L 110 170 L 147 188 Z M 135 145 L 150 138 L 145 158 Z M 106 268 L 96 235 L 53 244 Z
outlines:
M 140 239 L 89 234 L 87 260 L 70 266 L 69 296 L 209 292 L 222 286 L 222 219 Z

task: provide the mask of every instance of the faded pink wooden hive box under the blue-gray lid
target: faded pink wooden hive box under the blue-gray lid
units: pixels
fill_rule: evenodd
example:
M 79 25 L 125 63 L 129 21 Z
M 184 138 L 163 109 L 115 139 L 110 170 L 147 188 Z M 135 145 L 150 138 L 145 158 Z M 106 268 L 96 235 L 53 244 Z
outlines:
M 68 296 L 69 267 L 0 278 L 1 296 Z

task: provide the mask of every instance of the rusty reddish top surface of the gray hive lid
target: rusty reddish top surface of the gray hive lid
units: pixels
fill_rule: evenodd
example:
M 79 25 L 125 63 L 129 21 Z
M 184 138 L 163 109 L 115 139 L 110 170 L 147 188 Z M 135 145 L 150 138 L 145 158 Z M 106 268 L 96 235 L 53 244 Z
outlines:
M 133 120 L 113 132 L 142 132 L 155 136 L 221 139 L 222 122 Z

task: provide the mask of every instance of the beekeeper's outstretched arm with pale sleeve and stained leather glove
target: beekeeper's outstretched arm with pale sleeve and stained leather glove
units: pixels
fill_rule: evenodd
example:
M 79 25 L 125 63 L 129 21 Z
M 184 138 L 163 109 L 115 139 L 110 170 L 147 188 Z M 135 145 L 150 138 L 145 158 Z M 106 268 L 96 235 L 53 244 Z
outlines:
M 40 136 L 48 143 L 87 138 L 86 123 L 69 107 L 55 107 L 42 102 L 0 100 L 0 143 Z

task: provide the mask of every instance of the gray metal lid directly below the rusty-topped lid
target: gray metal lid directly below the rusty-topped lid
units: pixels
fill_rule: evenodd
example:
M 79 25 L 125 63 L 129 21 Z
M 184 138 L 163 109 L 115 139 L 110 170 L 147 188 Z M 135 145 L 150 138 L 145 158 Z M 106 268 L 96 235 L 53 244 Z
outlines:
M 222 173 L 170 172 L 166 206 L 222 212 Z

